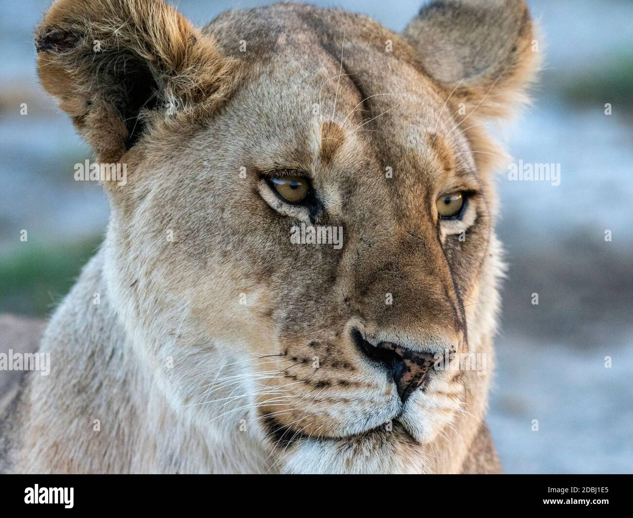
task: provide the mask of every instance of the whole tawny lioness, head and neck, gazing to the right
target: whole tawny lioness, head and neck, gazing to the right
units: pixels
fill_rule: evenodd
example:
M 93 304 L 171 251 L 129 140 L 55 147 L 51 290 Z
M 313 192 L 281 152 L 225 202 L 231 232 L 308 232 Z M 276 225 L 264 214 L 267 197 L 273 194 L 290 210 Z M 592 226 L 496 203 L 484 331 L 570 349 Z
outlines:
M 403 34 L 56 1 L 42 85 L 127 178 L 101 178 L 110 224 L 44 333 L 50 375 L 4 402 L 3 470 L 498 472 L 484 124 L 525 101 L 532 38 L 523 0 L 434 1 Z

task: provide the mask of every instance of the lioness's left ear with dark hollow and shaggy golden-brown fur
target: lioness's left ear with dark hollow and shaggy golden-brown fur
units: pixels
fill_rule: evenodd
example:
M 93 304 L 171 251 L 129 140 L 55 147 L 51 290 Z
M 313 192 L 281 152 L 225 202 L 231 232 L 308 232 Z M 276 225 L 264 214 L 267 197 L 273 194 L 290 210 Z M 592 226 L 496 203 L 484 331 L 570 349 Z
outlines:
M 161 0 L 57 0 L 35 33 L 37 71 L 100 161 L 152 116 L 225 97 L 232 62 Z

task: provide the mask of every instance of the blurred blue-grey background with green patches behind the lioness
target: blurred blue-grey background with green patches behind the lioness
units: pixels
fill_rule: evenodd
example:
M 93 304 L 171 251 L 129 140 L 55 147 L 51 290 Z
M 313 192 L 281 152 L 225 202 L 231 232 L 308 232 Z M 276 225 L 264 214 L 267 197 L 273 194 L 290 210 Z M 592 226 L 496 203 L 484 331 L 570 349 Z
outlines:
M 633 0 L 528 1 L 545 68 L 532 108 L 494 131 L 515 161 L 560 164 L 560 185 L 497 178 L 508 276 L 488 422 L 506 472 L 633 472 Z M 204 25 L 266 3 L 178 7 Z M 399 32 L 424 2 L 313 3 Z M 37 83 L 32 31 L 48 4 L 5 2 L 0 19 L 0 313 L 39 317 L 108 220 L 98 185 L 73 180 L 89 149 Z

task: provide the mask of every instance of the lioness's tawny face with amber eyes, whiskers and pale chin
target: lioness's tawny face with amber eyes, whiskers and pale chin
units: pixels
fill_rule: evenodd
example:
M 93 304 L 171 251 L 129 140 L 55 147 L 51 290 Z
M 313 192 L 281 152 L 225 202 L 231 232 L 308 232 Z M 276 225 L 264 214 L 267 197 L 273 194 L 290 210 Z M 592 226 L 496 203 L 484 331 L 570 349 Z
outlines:
M 183 93 L 168 80 L 184 72 L 161 70 L 140 137 L 119 125 L 106 147 L 85 103 L 78 127 L 128 168 L 126 185 L 107 186 L 112 297 L 155 369 L 175 358 L 159 385 L 179 411 L 227 434 L 246 423 L 287 471 L 427 469 L 411 452 L 451 426 L 471 388 L 449 366 L 485 354 L 493 331 L 494 148 L 480 125 L 525 75 L 529 16 L 516 4 L 511 44 L 499 43 L 508 78 L 468 56 L 447 71 L 421 39 L 458 13 L 429 8 L 401 37 L 283 5 L 192 32 L 209 48 L 185 54 L 231 79 L 194 78 Z M 77 43 L 56 45 L 55 59 Z

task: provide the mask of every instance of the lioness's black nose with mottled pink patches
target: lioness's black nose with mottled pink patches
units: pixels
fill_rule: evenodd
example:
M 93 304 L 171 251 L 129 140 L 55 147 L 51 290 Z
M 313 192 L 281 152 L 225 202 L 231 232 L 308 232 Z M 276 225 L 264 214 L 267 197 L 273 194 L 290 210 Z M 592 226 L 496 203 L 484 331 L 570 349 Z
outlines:
M 357 329 L 352 331 L 352 335 L 363 354 L 385 368 L 396 383 L 403 402 L 422 385 L 430 369 L 444 361 L 441 355 L 414 351 L 397 343 L 380 342 L 373 345 L 367 342 Z

